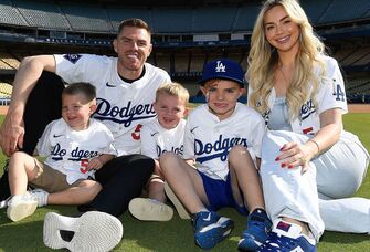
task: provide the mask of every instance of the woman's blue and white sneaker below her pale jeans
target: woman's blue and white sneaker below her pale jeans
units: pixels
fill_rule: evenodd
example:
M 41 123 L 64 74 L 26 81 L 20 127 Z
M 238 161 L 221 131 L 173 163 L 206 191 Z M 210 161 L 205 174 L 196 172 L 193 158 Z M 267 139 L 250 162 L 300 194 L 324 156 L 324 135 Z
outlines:
M 282 220 L 274 222 L 273 231 L 267 241 L 257 251 L 304 251 L 316 252 L 316 241 L 314 238 L 300 233 L 302 228 L 294 223 Z

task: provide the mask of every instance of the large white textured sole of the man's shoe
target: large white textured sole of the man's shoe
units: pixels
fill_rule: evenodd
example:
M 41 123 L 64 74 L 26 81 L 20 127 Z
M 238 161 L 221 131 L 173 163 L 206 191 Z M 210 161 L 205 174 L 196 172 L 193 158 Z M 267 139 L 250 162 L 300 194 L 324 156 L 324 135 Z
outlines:
M 60 230 L 73 231 L 70 242 L 61 238 Z M 70 251 L 110 251 L 121 240 L 124 228 L 120 221 L 108 213 L 89 211 L 80 218 L 49 212 L 44 219 L 43 240 L 51 249 L 66 248 Z

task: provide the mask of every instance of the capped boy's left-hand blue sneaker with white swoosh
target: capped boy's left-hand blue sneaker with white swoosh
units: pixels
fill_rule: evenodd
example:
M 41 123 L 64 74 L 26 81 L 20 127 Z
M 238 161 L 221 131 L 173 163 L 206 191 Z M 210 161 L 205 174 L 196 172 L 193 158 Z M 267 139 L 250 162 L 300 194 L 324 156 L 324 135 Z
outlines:
M 198 212 L 193 220 L 195 244 L 209 250 L 223 241 L 234 228 L 234 222 L 215 212 Z

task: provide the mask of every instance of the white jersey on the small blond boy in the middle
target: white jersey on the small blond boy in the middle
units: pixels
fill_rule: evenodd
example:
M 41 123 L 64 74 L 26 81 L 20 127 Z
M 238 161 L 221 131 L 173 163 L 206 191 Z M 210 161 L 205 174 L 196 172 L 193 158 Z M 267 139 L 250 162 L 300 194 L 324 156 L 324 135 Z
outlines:
M 158 159 L 162 153 L 171 151 L 182 156 L 183 135 L 187 122 L 181 119 L 179 124 L 171 129 L 163 128 L 158 118 L 142 125 L 141 134 L 141 154 Z

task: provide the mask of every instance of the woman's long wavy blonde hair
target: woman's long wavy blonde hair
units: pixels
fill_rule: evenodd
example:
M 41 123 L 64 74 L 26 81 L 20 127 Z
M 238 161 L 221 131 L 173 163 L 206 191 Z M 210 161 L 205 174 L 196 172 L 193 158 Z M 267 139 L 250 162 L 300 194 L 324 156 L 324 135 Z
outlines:
M 302 105 L 309 98 L 317 106 L 314 96 L 318 91 L 319 80 L 325 73 L 325 64 L 320 57 L 325 54 L 325 45 L 314 33 L 305 11 L 296 0 L 267 0 L 261 9 L 254 24 L 247 59 L 246 80 L 253 90 L 249 104 L 262 114 L 268 109 L 267 98 L 274 85 L 274 70 L 278 62 L 278 55 L 266 39 L 264 17 L 268 10 L 276 6 L 284 8 L 292 21 L 298 24 L 300 31 L 295 72 L 286 93 L 289 116 L 297 118 Z M 323 70 L 320 76 L 315 75 L 314 66 L 316 63 Z

